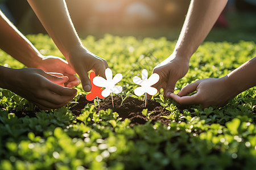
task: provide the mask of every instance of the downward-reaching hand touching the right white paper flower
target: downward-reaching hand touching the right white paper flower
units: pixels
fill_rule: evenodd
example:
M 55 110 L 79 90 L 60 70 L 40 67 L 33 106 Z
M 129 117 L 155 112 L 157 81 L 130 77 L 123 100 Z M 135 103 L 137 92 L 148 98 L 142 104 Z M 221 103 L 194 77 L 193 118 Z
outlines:
M 157 88 L 158 91 L 160 88 L 163 88 L 164 95 L 170 97 L 170 94 L 174 92 L 177 80 L 183 78 L 187 74 L 188 69 L 189 59 L 180 58 L 172 54 L 155 66 L 153 73 L 159 74 L 160 79 L 153 87 Z

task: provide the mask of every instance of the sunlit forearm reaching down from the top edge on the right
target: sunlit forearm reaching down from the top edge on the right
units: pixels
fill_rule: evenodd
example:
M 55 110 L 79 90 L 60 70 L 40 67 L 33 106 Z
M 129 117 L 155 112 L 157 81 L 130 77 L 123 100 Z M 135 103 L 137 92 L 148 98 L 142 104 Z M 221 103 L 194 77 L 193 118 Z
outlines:
M 190 58 L 212 29 L 228 0 L 192 0 L 174 53 Z

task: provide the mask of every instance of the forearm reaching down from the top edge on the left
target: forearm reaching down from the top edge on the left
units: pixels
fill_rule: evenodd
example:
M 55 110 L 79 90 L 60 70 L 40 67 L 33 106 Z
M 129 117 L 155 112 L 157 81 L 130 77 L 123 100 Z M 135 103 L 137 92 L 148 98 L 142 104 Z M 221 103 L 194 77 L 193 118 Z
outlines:
M 84 49 L 64 0 L 28 0 L 49 36 L 69 60 L 72 50 Z

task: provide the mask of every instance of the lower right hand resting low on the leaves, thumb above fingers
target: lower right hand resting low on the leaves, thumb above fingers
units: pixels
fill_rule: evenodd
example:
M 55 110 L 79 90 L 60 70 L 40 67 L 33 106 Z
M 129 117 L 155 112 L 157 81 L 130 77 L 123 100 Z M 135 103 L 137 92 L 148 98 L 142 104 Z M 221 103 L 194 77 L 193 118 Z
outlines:
M 184 86 L 177 95 L 171 94 L 170 97 L 182 105 L 201 104 L 203 108 L 208 108 L 211 105 L 221 107 L 237 95 L 235 91 L 231 90 L 232 88 L 229 87 L 226 79 L 225 76 L 219 79 L 197 80 Z M 197 93 L 187 96 L 194 91 L 197 91 Z

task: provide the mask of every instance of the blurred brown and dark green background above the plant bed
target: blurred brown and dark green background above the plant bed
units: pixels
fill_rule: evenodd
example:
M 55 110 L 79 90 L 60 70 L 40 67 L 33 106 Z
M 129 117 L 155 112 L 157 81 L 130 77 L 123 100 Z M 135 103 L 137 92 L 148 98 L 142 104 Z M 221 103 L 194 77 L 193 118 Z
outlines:
M 79 36 L 167 37 L 176 40 L 185 19 L 188 0 L 66 0 Z M 7 18 L 25 35 L 46 33 L 24 0 L 0 0 Z M 236 35 L 236 36 L 234 36 Z M 230 0 L 208 41 L 256 42 L 256 0 Z

